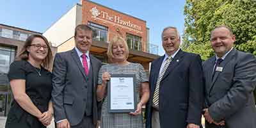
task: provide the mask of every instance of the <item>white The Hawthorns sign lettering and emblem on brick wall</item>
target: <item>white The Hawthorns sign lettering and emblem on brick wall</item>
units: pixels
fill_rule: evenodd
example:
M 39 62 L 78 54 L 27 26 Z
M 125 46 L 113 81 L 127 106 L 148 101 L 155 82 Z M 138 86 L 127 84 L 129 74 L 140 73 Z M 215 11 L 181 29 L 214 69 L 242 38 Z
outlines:
M 92 12 L 93 18 L 109 20 L 111 22 L 115 22 L 116 24 L 120 24 L 122 26 L 127 26 L 129 28 L 141 31 L 141 26 L 132 24 L 130 20 L 122 20 L 121 17 L 118 17 L 116 15 L 109 15 L 108 12 L 99 11 L 96 7 L 93 7 L 90 11 Z

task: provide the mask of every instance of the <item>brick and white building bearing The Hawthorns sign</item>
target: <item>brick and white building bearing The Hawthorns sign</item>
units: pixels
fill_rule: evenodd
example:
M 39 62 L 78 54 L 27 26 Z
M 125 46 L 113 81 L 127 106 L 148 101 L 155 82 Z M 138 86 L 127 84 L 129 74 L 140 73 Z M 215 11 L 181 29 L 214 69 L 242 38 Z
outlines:
M 88 0 L 76 4 L 43 35 L 58 46 L 58 52 L 68 51 L 74 49 L 74 29 L 78 24 L 87 24 L 93 29 L 90 53 L 104 63 L 108 63 L 106 52 L 113 36 L 122 36 L 126 40 L 128 61 L 141 63 L 147 71 L 149 63 L 159 57 L 158 46 L 149 43 L 149 28 L 145 20 Z

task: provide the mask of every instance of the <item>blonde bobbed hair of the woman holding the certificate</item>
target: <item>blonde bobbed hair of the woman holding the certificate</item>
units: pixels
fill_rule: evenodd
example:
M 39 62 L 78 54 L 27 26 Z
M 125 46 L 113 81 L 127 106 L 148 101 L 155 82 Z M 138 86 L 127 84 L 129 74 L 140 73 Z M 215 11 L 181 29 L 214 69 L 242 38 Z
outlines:
M 112 38 L 112 40 L 109 42 L 108 44 L 108 59 L 110 61 L 113 62 L 113 44 L 117 43 L 117 42 L 122 42 L 122 44 L 124 44 L 124 48 L 125 48 L 125 59 L 127 60 L 128 56 L 129 56 L 129 48 L 127 43 L 125 42 L 124 38 L 122 38 L 121 36 L 114 36 Z

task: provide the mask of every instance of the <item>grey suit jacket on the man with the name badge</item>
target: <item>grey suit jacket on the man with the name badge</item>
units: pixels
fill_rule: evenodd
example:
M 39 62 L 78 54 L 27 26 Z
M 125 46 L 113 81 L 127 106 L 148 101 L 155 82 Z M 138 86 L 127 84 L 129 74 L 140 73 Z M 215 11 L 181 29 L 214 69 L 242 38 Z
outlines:
M 225 120 L 228 128 L 256 127 L 253 90 L 256 86 L 256 58 L 232 49 L 220 63 L 222 72 L 212 72 L 216 57 L 203 64 L 205 105 L 214 121 Z M 212 81 L 211 81 L 212 79 Z

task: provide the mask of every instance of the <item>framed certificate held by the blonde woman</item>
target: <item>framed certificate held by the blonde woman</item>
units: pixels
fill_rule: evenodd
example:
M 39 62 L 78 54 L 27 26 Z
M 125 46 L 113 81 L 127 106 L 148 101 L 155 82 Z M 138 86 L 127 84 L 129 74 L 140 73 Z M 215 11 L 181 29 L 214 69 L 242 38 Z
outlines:
M 109 113 L 129 113 L 136 110 L 135 74 L 112 74 L 108 81 Z

